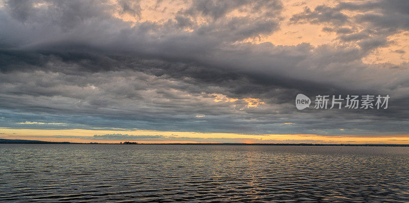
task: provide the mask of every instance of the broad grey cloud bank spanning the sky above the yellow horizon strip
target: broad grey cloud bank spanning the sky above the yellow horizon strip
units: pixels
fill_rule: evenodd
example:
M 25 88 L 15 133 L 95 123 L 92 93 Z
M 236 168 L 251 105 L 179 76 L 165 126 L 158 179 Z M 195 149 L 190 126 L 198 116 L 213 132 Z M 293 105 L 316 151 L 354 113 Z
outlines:
M 407 64 L 360 62 L 373 46 L 241 43 L 279 29 L 280 2 L 195 1 L 164 24 L 133 27 L 104 4 L 47 2 L 53 7 L 11 1 L 1 8 L 0 27 L 8 28 L 0 30 L 2 126 L 352 136 L 409 130 Z M 264 12 L 226 17 L 243 6 Z M 140 15 L 138 4 L 120 7 Z M 198 16 L 208 23 L 196 24 Z M 239 100 L 214 102 L 214 93 Z M 297 111 L 298 93 L 390 94 L 391 101 L 388 110 Z M 241 100 L 248 97 L 265 104 L 248 108 Z M 25 121 L 66 124 L 19 124 Z

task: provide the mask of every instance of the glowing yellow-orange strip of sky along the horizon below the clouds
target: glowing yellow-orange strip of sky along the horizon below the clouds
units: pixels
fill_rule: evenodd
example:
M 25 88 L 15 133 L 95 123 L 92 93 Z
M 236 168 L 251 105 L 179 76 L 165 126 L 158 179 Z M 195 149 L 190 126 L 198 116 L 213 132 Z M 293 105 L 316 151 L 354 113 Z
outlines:
M 120 141 L 137 141 L 139 143 L 221 143 L 221 142 L 203 142 L 203 141 L 174 141 L 174 140 L 98 140 L 98 139 L 81 139 L 75 136 L 89 136 L 106 134 L 127 134 L 127 135 L 162 135 L 166 137 L 188 137 L 188 138 L 233 138 L 240 139 L 240 143 L 336 143 L 336 144 L 409 144 L 409 135 L 384 135 L 378 137 L 368 136 L 326 136 L 314 134 L 237 134 L 237 133 L 198 133 L 198 132 L 175 132 L 175 131 L 113 131 L 113 130 L 38 130 L 38 129 L 8 129 L 0 128 L 1 138 L 3 139 L 27 139 L 41 141 L 68 141 L 68 142 L 99 142 L 99 143 L 119 143 Z M 38 137 L 37 137 L 38 136 Z M 54 138 L 47 136 L 74 136 L 73 138 Z M 269 142 L 266 142 L 271 140 Z M 288 140 L 288 141 L 287 141 Z M 296 142 L 294 142 L 294 140 Z M 297 141 L 301 140 L 301 141 Z M 302 140 L 311 140 L 305 141 Z

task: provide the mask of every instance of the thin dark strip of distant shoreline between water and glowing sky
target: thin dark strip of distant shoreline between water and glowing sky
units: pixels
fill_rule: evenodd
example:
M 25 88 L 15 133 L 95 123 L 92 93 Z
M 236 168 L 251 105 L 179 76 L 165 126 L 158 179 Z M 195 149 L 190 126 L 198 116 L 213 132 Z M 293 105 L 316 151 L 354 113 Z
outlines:
M 0 139 L 0 144 L 120 144 L 120 143 L 79 143 L 79 142 L 48 142 L 39 140 L 13 140 L 13 139 Z M 409 147 L 409 144 L 309 144 L 309 143 L 138 143 L 142 145 L 242 145 L 242 146 L 263 146 L 263 145 L 275 145 L 275 146 L 403 146 Z M 138 145 L 135 144 L 135 145 Z

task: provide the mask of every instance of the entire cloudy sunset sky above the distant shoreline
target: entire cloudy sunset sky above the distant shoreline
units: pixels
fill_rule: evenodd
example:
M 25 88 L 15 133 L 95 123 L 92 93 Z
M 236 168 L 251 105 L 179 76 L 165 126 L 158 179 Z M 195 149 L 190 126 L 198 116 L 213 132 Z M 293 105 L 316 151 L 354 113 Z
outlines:
M 408 39 L 406 0 L 0 1 L 0 138 L 409 144 Z

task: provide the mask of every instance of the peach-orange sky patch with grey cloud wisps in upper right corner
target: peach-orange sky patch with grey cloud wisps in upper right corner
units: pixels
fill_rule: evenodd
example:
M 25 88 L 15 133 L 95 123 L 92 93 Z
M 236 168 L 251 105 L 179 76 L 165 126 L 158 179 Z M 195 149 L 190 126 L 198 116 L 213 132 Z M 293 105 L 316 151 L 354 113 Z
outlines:
M 360 41 L 362 49 L 369 52 L 392 43 L 388 36 L 409 29 L 409 4 L 404 0 L 339 2 L 334 7 L 320 5 L 313 10 L 306 7 L 290 21 L 332 26 L 324 30 L 336 32 L 338 39 L 345 42 Z

